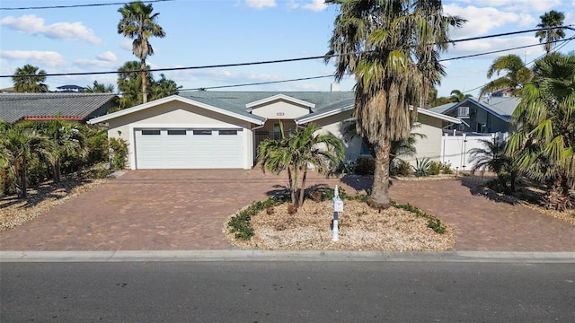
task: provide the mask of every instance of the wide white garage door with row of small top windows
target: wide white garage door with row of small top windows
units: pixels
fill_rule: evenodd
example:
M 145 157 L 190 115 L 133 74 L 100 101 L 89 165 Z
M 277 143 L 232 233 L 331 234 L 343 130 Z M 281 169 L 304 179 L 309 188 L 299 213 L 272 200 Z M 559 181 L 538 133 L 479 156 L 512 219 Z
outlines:
M 137 169 L 243 168 L 242 129 L 136 129 Z

